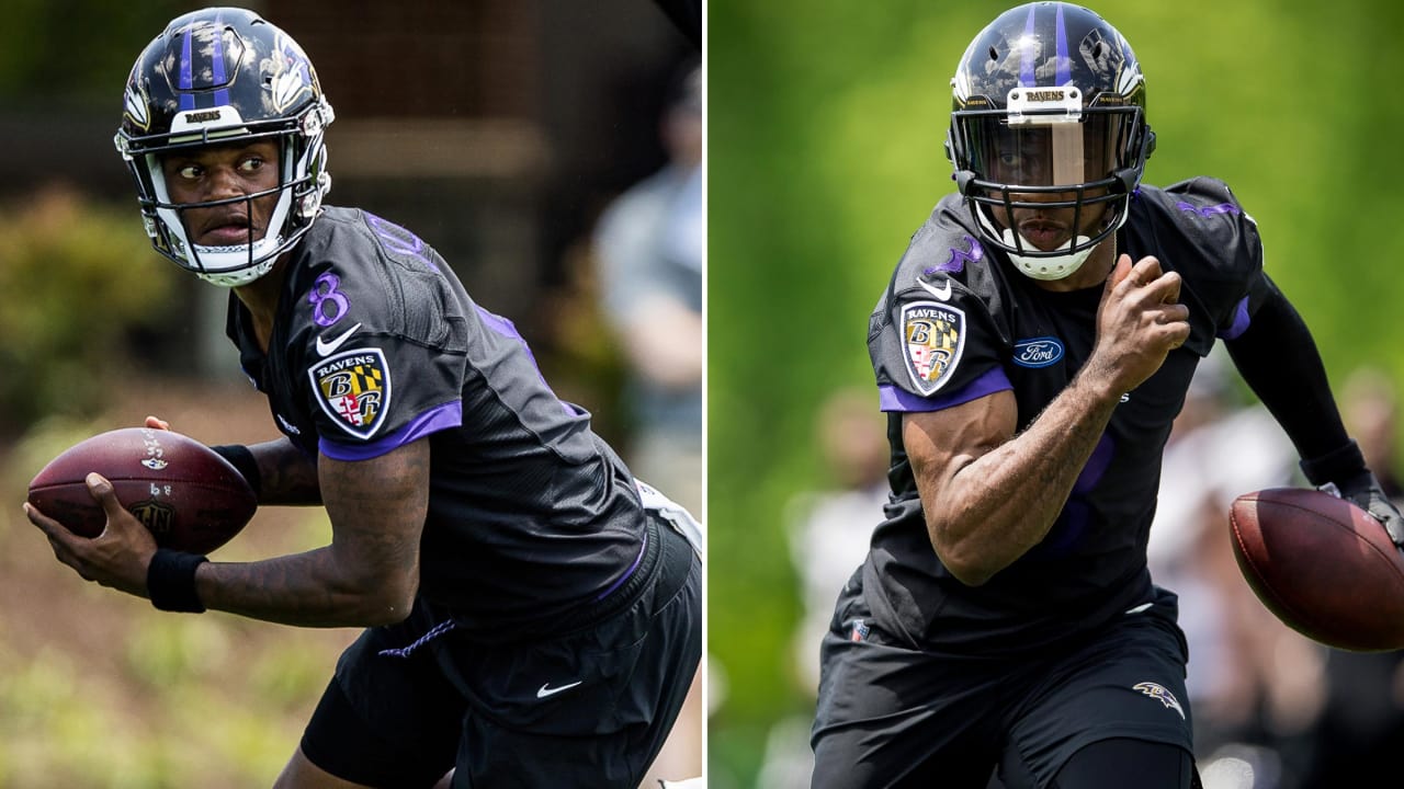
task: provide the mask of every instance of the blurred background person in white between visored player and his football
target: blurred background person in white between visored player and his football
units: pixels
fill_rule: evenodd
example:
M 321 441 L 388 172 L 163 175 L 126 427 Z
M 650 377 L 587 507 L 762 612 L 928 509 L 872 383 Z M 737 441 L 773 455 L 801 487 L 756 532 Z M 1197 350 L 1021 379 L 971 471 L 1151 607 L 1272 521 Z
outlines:
M 1302 484 L 1292 442 L 1261 403 L 1245 403 L 1216 348 L 1195 371 L 1165 446 L 1147 548 L 1151 577 L 1181 599 L 1206 789 L 1286 789 L 1306 765 L 1302 738 L 1324 699 L 1325 649 L 1262 606 L 1228 542 L 1234 498 Z M 1237 783 L 1223 783 L 1226 775 Z

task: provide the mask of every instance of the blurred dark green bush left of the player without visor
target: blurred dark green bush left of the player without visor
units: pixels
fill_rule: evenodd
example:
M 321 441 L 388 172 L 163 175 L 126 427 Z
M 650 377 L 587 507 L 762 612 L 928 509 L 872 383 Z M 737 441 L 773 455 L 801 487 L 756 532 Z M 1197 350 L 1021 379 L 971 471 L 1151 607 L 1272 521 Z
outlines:
M 136 209 L 62 188 L 0 205 L 0 439 L 41 416 L 91 416 L 131 383 L 129 340 L 177 307 L 180 271 Z

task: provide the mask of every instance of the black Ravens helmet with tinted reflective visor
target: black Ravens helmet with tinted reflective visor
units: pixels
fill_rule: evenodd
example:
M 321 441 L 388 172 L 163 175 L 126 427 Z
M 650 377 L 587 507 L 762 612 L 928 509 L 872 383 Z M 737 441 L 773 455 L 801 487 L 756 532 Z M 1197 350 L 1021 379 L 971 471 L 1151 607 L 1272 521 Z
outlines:
M 1126 222 L 1154 149 L 1130 45 L 1087 8 L 1028 3 L 974 37 L 951 86 L 946 152 L 981 234 L 1029 277 L 1073 274 Z M 1009 226 L 1035 208 L 1073 209 L 1071 240 L 1040 250 Z

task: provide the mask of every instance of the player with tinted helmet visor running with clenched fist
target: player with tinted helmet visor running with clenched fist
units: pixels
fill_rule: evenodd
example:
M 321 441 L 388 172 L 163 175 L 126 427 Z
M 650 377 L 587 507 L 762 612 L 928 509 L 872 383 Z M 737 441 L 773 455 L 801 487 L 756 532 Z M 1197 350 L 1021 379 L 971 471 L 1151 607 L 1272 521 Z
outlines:
M 1404 519 L 1238 199 L 1141 183 L 1146 79 L 1116 28 L 1011 8 L 952 87 L 959 194 L 868 333 L 892 498 L 824 637 L 813 785 L 1188 789 L 1185 642 L 1146 543 L 1198 362 L 1221 340 L 1313 484 L 1396 543 Z

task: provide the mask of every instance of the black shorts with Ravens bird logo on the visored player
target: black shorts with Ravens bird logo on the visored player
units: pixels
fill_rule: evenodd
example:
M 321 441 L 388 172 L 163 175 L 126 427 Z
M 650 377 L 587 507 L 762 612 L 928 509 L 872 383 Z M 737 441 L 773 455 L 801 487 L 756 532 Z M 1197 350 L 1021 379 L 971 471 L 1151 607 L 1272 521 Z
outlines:
M 872 621 L 861 571 L 821 647 L 813 789 L 1047 786 L 1111 738 L 1192 751 L 1188 650 L 1174 594 L 1021 660 L 942 658 Z M 1161 789 L 1140 776 L 1137 789 Z

